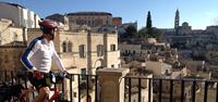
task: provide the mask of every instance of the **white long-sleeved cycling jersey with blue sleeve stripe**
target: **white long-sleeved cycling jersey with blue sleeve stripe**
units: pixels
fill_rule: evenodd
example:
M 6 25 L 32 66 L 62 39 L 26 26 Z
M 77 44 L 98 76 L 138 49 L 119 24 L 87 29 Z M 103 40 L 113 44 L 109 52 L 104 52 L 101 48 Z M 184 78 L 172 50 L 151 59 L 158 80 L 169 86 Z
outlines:
M 22 55 L 21 61 L 27 69 L 49 73 L 52 60 L 59 69 L 65 71 L 63 64 L 55 50 L 53 42 L 46 38 L 34 39 Z

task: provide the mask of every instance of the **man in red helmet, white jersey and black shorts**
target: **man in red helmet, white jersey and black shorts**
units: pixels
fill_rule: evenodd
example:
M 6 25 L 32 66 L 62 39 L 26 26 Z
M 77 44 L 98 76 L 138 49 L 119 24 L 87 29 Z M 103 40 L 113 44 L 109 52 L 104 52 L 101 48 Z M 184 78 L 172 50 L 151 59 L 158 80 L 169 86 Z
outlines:
M 55 50 L 52 41 L 56 37 L 56 29 L 58 28 L 57 23 L 45 20 L 39 23 L 39 26 L 43 35 L 29 43 L 21 61 L 29 72 L 28 79 L 31 84 L 39 92 L 33 102 L 47 102 L 51 82 L 50 80 L 48 81 L 47 75 L 50 72 L 52 60 L 61 72 L 66 73 L 66 71 Z

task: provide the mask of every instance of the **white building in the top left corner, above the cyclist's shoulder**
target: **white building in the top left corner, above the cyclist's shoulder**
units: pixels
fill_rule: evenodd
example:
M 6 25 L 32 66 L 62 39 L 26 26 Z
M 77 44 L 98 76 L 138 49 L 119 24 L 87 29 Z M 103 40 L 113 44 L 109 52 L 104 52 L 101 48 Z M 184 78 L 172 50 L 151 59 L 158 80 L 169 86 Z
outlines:
M 35 12 L 23 5 L 9 2 L 0 2 L 0 18 L 12 20 L 15 26 L 37 28 L 40 17 Z

